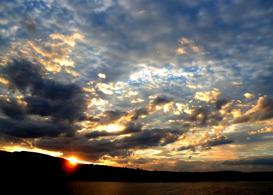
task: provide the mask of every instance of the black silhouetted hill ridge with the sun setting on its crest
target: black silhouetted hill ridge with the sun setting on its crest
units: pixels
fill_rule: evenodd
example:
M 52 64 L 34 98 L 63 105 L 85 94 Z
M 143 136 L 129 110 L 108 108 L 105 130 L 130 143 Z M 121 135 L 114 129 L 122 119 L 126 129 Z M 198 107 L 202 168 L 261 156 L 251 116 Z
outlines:
M 6 181 L 273 181 L 273 172 L 168 172 L 80 163 L 72 166 L 64 158 L 26 151 L 5 152 L 0 150 L 0 158 L 1 177 Z

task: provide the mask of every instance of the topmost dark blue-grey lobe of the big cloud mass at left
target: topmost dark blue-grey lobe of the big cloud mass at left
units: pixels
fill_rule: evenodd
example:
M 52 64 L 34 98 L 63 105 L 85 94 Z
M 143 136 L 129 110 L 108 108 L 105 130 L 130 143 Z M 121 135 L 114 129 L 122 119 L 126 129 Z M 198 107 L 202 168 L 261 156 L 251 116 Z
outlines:
M 13 59 L 13 62 L 2 66 L 1 76 L 9 81 L 11 90 L 21 93 L 31 93 L 46 99 L 71 99 L 82 93 L 81 87 L 75 83 L 63 84 L 53 79 L 46 78 L 46 71 L 38 64 L 33 64 L 26 59 Z

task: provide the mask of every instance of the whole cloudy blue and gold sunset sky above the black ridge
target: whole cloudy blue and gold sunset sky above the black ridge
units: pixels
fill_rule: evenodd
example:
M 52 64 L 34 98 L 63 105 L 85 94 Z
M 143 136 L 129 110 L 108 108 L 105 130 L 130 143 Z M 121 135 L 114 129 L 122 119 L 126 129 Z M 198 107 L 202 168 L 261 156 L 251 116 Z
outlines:
M 0 150 L 273 171 L 273 1 L 2 0 Z

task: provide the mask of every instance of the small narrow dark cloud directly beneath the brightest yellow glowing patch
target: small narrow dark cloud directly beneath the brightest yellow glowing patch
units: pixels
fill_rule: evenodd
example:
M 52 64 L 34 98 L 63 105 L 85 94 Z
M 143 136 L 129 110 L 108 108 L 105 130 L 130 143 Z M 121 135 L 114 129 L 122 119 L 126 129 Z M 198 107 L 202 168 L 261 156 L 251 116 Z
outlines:
M 141 129 L 142 129 L 141 124 L 129 122 L 127 123 L 126 127 L 121 131 L 116 131 L 116 132 L 108 132 L 106 130 L 92 131 L 91 133 L 85 134 L 84 137 L 97 138 L 97 137 L 105 137 L 105 136 L 124 135 L 129 133 L 140 132 Z

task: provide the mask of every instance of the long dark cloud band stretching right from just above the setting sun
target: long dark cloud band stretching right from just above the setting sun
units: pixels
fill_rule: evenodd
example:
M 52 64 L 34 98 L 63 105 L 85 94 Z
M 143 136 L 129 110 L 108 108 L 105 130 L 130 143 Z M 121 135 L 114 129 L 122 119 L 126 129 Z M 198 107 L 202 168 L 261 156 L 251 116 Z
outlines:
M 138 130 L 140 125 L 129 123 L 127 127 L 127 131 L 132 128 Z M 91 136 L 97 136 L 96 134 L 98 133 L 99 132 L 96 132 Z M 144 129 L 141 132 L 136 132 L 131 136 L 125 136 L 121 139 L 100 138 L 87 140 L 81 136 L 74 138 L 43 138 L 37 141 L 36 147 L 61 152 L 70 152 L 72 147 L 73 152 L 90 153 L 92 154 L 92 159 L 96 160 L 106 154 L 123 158 L 132 154 L 129 149 L 146 149 L 154 146 L 165 146 L 168 143 L 173 143 L 178 140 L 183 133 L 185 133 L 185 131 L 179 129 L 153 128 Z M 102 132 L 102 135 L 106 136 L 106 132 Z

